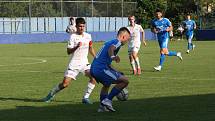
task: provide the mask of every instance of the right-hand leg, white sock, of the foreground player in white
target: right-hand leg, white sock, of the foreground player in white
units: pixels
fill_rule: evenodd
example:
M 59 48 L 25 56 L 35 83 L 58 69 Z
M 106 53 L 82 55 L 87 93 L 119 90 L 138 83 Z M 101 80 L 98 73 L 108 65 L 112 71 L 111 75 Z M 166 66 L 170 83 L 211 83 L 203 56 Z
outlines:
M 90 80 L 87 84 L 83 99 L 82 99 L 82 103 L 84 104 L 92 104 L 92 102 L 90 101 L 89 97 L 93 91 L 93 89 L 95 88 L 95 84 L 96 84 L 96 80 L 90 75 L 90 70 L 87 69 L 85 70 L 85 76 L 87 76 Z

